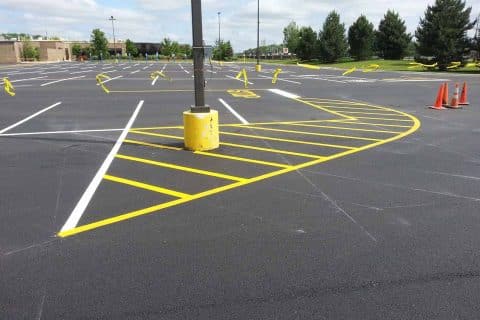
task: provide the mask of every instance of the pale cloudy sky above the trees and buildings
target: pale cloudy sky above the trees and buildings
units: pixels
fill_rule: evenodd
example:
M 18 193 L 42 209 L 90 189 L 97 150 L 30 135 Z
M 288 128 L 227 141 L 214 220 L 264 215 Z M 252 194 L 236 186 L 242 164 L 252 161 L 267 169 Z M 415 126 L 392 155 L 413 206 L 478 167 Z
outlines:
M 283 28 L 295 21 L 319 31 L 326 15 L 336 10 L 348 27 L 364 14 L 375 27 L 388 9 L 405 20 L 414 33 L 428 5 L 434 0 L 259 0 L 260 40 L 281 43 Z M 480 1 L 467 0 L 471 20 L 480 13 Z M 192 43 L 190 0 L 2 0 L 0 33 L 18 32 L 59 36 L 65 40 L 89 40 L 100 28 L 112 38 L 110 16 L 115 19 L 117 39 L 161 42 L 168 37 Z M 230 40 L 235 52 L 256 46 L 257 0 L 202 0 L 203 35 L 207 44 L 218 38 Z M 473 35 L 473 31 L 470 32 Z

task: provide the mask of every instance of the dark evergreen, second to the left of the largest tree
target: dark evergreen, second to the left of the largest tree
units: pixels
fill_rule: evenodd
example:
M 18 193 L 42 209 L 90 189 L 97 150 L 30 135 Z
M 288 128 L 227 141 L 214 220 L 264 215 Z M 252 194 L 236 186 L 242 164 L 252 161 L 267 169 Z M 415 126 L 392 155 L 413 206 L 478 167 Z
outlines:
M 348 29 L 350 54 L 356 60 L 369 59 L 373 54 L 374 41 L 373 24 L 362 14 Z

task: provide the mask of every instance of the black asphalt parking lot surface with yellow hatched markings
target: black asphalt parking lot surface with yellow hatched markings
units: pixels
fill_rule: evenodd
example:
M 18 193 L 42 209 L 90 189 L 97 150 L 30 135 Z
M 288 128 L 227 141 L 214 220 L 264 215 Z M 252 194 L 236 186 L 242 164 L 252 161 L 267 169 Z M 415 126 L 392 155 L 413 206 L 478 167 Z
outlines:
M 0 93 L 0 132 L 61 102 L 0 134 L 0 319 L 480 317 L 480 76 L 268 64 L 257 74 L 247 64 L 258 96 L 247 99 L 227 91 L 244 90 L 232 79 L 243 67 L 207 66 L 207 104 L 219 111 L 224 144 L 202 155 L 182 149 L 191 63 L 0 66 L 16 88 L 15 97 Z M 162 69 L 171 81 L 152 85 Z M 96 85 L 101 72 L 122 76 L 105 83 L 109 94 Z M 466 81 L 471 104 L 428 109 L 444 81 L 450 95 Z M 218 99 L 252 125 L 239 126 Z M 102 225 L 59 236 L 142 100 L 107 174 L 168 191 L 103 179 L 77 226 Z M 388 115 L 362 114 L 375 106 Z M 405 132 L 408 115 L 421 126 L 255 180 L 371 144 L 313 127 L 349 126 L 325 122 L 348 108 L 365 117 L 351 124 L 357 138 Z

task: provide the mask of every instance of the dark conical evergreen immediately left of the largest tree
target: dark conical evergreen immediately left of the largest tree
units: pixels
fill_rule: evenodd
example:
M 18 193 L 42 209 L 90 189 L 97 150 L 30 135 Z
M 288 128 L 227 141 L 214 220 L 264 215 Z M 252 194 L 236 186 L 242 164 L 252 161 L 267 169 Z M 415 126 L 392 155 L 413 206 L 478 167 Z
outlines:
M 406 32 L 405 21 L 398 13 L 388 10 L 378 25 L 376 49 L 385 59 L 403 59 L 412 36 Z

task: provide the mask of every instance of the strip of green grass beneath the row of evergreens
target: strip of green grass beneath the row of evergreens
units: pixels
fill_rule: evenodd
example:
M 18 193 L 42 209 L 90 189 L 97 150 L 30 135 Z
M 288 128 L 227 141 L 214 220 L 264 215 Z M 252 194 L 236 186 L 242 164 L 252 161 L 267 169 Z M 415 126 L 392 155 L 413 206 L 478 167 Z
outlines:
M 254 59 L 247 59 L 247 62 L 255 62 Z M 382 59 L 373 59 L 373 60 L 365 60 L 365 61 L 346 61 L 346 62 L 338 62 L 338 63 L 319 63 L 319 62 L 304 62 L 305 64 L 311 65 L 318 65 L 320 67 L 330 67 L 330 68 L 339 68 L 348 70 L 353 67 L 357 67 L 358 69 L 367 68 L 370 64 L 378 64 L 380 66 L 379 70 L 386 70 L 386 71 L 417 71 L 417 72 L 425 72 L 425 71 L 438 71 L 435 70 L 426 70 L 422 67 L 412 68 L 409 69 L 411 65 L 409 63 L 413 62 L 413 60 L 382 60 Z M 260 60 L 260 63 L 276 63 L 276 64 L 296 64 L 296 60 Z M 480 73 L 480 68 L 477 67 L 468 67 L 468 68 L 458 68 L 448 70 L 446 72 L 452 73 Z

